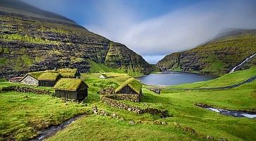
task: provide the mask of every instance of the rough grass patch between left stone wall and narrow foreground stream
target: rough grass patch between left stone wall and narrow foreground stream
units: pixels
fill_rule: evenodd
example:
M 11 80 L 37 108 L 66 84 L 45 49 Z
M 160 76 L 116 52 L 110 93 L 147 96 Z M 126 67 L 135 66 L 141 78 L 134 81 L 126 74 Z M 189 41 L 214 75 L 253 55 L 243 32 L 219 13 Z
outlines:
M 0 97 L 0 140 L 28 140 L 49 125 L 88 111 L 82 104 L 48 95 L 1 92 Z

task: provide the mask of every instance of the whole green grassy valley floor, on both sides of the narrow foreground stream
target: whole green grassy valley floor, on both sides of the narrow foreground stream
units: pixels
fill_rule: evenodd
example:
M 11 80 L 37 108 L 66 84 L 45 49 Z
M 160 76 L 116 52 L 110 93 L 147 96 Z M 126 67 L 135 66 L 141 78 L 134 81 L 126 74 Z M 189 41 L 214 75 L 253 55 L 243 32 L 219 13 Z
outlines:
M 205 85 L 207 87 L 217 85 L 217 83 L 222 82 L 220 80 L 226 80 L 226 82 L 218 85 L 229 85 L 235 83 L 233 81 L 240 82 L 250 78 L 255 74 L 254 72 L 255 68 L 231 73 L 217 80 L 212 80 L 212 82 L 205 82 Z M 48 140 L 205 140 L 204 137 L 207 135 L 211 135 L 215 140 L 220 138 L 256 140 L 255 119 L 224 116 L 195 106 L 197 103 L 205 103 L 224 109 L 256 109 L 256 81 L 230 90 L 163 90 L 161 94 L 156 94 L 143 88 L 142 102 L 122 101 L 141 108 L 167 109 L 171 115 L 168 118 L 159 118 L 159 116 L 152 116 L 151 114 L 138 115 L 100 102 L 100 95 L 97 94 L 98 90 L 108 86 L 118 87 L 131 76 L 125 73 L 106 73 L 109 78 L 100 79 L 99 75 L 100 73 L 83 73 L 81 75 L 81 78 L 90 87 L 88 98 L 85 101 L 87 106 L 73 102 L 66 105 L 61 99 L 47 95 L 17 92 L 1 93 L 0 104 L 3 116 L 0 117 L 1 127 L 4 128 L 1 128 L 0 135 L 12 135 L 11 130 L 14 130 L 13 128 L 17 126 L 16 122 L 11 121 L 11 119 L 16 119 L 16 114 L 21 111 L 23 111 L 23 116 L 18 116 L 18 122 L 36 121 L 35 123 L 28 122 L 23 126 L 18 126 L 20 127 L 19 131 L 13 133 L 13 137 L 23 140 L 36 135 L 34 131 L 29 130 L 30 128 L 34 129 L 37 125 L 44 125 L 45 121 L 49 121 L 51 124 L 61 123 L 64 120 L 61 117 L 71 118 L 91 110 L 92 106 L 96 105 L 98 109 L 116 113 L 124 120 L 88 115 L 78 119 L 78 121 Z M 233 81 L 228 81 L 228 79 L 233 79 Z M 0 87 L 3 87 L 3 85 L 13 85 L 13 83 L 0 82 Z M 24 99 L 28 99 L 28 102 Z M 25 106 L 17 106 L 17 104 Z M 15 108 L 11 109 L 11 107 Z M 20 109 L 22 110 L 20 111 Z M 9 112 L 10 110 L 11 112 Z M 2 119 L 2 117 L 5 118 Z M 155 120 L 165 121 L 168 125 L 154 125 Z M 135 125 L 130 125 L 130 121 L 135 121 Z M 177 128 L 176 123 L 181 125 L 181 128 Z M 193 128 L 197 134 L 184 131 L 183 128 L 185 127 Z

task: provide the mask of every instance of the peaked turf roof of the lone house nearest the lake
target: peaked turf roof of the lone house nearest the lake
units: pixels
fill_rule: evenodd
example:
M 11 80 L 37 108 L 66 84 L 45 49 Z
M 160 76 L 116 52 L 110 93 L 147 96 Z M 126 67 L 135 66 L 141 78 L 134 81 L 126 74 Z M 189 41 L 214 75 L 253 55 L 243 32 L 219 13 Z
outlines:
M 121 89 L 123 89 L 123 87 L 126 87 L 126 85 L 128 85 L 129 87 L 131 87 L 133 90 L 135 90 L 135 92 L 137 92 L 138 94 L 140 94 L 140 90 L 142 87 L 142 84 L 140 83 L 140 81 L 134 79 L 134 78 L 130 78 L 128 80 L 126 80 L 126 82 L 123 82 L 122 85 L 120 85 L 115 92 L 119 92 Z

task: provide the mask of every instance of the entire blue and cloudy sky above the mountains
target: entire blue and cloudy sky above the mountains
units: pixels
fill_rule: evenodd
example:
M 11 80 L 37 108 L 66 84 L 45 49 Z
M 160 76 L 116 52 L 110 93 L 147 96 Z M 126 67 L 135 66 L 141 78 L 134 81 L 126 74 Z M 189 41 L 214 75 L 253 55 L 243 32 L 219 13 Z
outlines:
M 256 28 L 249 0 L 23 0 L 75 20 L 157 63 L 209 41 L 226 27 Z

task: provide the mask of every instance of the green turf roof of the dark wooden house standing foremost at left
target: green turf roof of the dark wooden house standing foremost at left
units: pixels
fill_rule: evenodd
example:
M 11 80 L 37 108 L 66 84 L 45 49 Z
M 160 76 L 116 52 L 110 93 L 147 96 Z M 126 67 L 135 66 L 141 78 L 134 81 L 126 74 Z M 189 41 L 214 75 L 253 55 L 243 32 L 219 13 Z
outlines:
M 76 79 L 76 78 L 61 78 L 61 80 L 59 80 L 54 86 L 54 89 L 77 90 L 82 82 L 83 80 Z

